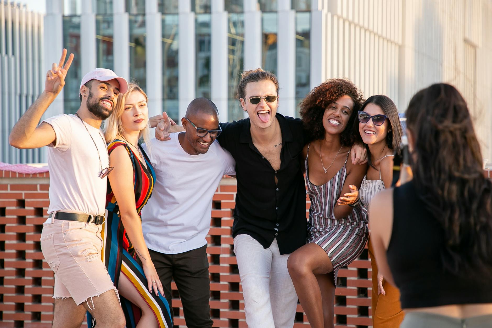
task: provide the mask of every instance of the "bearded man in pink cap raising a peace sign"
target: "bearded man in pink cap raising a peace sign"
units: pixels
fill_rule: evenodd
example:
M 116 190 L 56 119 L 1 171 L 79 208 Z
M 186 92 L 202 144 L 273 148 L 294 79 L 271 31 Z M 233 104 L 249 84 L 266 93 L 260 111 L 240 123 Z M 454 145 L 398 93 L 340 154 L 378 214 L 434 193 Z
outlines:
M 101 223 L 106 203 L 109 156 L 101 123 L 116 106 L 128 84 L 112 70 L 96 68 L 82 79 L 75 115 L 41 116 L 65 85 L 73 60 L 46 73 L 45 89 L 13 127 L 10 145 L 48 146 L 49 217 L 43 224 L 41 249 L 55 272 L 53 327 L 80 327 L 86 310 L 97 327 L 124 327 L 118 291 L 101 261 Z

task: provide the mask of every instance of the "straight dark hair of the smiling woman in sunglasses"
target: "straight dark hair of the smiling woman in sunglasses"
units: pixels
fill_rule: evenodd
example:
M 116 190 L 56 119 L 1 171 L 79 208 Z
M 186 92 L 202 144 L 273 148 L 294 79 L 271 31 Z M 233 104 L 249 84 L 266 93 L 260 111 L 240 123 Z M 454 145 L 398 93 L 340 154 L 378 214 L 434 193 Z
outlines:
M 388 133 L 386 134 L 386 145 L 391 150 L 399 149 L 401 144 L 401 136 L 403 135 L 403 129 L 401 128 L 400 116 L 398 115 L 397 105 L 390 99 L 390 97 L 385 96 L 383 94 L 376 94 L 370 96 L 364 104 L 362 104 L 361 111 L 364 111 L 367 105 L 374 104 L 381 108 L 383 113 L 388 117 L 388 121 L 390 122 L 388 126 Z M 368 164 L 372 166 L 374 169 L 374 165 L 372 163 L 372 157 L 370 155 L 369 146 L 364 144 L 362 141 L 361 134 L 359 132 L 359 119 L 356 119 L 354 122 L 354 134 L 356 135 L 357 140 L 364 145 L 366 148 Z

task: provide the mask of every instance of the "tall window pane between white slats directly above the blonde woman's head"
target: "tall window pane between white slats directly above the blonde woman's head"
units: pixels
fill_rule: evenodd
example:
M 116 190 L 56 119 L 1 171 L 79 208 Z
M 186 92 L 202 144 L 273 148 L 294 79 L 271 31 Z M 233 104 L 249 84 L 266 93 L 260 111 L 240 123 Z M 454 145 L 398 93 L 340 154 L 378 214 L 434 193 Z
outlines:
M 129 15 L 130 79 L 146 89 L 145 15 Z

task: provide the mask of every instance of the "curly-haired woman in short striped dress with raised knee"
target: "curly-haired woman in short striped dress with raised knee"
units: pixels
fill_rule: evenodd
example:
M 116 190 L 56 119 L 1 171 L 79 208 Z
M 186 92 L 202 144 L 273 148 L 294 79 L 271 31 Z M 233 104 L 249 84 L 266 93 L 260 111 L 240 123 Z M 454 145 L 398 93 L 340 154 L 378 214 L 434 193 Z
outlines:
M 287 268 L 311 327 L 333 327 L 338 268 L 364 250 L 368 225 L 359 203 L 339 205 L 340 195 L 360 187 L 366 165 L 348 161 L 355 140 L 352 126 L 364 102 L 350 81 L 331 79 L 301 104 L 311 142 L 303 149 L 311 207 L 307 244 L 292 253 Z M 319 300 L 322 300 L 320 302 Z

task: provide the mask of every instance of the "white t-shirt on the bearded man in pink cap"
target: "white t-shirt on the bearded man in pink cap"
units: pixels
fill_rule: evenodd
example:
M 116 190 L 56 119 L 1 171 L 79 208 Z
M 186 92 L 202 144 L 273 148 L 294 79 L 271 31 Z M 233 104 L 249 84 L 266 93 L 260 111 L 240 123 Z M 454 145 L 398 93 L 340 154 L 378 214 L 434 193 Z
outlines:
M 48 213 L 68 210 L 92 215 L 104 214 L 108 178 L 98 177 L 101 165 L 103 169 L 109 166 L 104 134 L 100 129 L 85 124 L 99 150 L 99 164 L 94 142 L 78 117 L 60 114 L 43 122 L 53 126 L 57 136 L 55 145 L 51 144 L 48 148 Z

